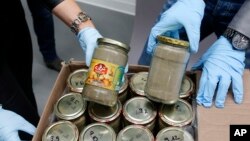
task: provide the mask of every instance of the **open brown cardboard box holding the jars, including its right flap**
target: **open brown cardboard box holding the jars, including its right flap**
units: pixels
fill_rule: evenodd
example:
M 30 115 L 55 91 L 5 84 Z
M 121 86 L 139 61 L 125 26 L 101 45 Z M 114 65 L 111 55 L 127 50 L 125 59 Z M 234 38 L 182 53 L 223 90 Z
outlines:
M 54 87 L 45 105 L 41 119 L 37 126 L 32 141 L 41 141 L 45 129 L 54 122 L 53 107 L 57 100 L 65 94 L 67 78 L 76 69 L 87 68 L 82 61 L 70 60 L 63 62 L 63 67 L 55 81 Z M 140 71 L 148 71 L 148 67 L 139 65 L 129 65 L 128 75 Z M 198 73 L 199 74 L 199 73 Z M 195 140 L 196 141 L 228 141 L 230 124 L 250 124 L 250 71 L 245 72 L 245 98 L 241 105 L 236 105 L 232 97 L 229 97 L 224 109 L 197 107 L 195 120 Z M 197 75 L 199 76 L 199 75 Z M 196 77 L 197 81 L 199 77 Z M 196 128 L 198 127 L 198 128 Z

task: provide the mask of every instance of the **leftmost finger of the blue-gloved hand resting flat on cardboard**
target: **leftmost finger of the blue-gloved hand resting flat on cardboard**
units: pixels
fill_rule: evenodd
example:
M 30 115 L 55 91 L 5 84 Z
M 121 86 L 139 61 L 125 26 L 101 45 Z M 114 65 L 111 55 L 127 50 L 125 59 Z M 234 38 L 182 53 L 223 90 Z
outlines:
M 213 103 L 213 97 L 215 94 L 215 89 L 217 86 L 217 83 L 219 81 L 218 76 L 214 75 L 214 72 L 212 71 L 212 68 L 214 67 L 214 64 L 210 62 L 206 62 L 204 65 L 203 70 L 206 70 L 208 73 L 207 77 L 207 83 L 204 86 L 204 92 L 203 92 L 203 103 L 202 105 L 204 107 L 211 107 Z

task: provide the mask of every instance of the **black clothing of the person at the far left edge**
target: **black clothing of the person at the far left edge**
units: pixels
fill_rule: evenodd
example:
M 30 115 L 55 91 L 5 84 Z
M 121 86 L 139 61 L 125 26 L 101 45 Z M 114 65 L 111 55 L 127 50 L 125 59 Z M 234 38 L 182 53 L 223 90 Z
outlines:
M 2 5 L 11 7 L 11 10 L 0 10 L 3 35 L 0 47 L 0 104 L 37 126 L 39 114 L 32 88 L 32 43 L 24 10 L 20 0 L 2 1 Z M 20 137 L 26 140 L 32 137 L 27 136 Z

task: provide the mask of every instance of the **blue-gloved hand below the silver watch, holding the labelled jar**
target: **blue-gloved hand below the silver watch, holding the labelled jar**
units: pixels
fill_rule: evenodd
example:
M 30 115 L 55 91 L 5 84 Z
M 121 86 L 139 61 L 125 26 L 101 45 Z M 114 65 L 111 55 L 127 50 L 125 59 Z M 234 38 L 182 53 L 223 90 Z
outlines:
M 95 28 L 86 27 L 79 31 L 77 38 L 85 53 L 86 65 L 89 66 L 94 50 L 97 47 L 97 39 L 102 38 L 102 35 Z

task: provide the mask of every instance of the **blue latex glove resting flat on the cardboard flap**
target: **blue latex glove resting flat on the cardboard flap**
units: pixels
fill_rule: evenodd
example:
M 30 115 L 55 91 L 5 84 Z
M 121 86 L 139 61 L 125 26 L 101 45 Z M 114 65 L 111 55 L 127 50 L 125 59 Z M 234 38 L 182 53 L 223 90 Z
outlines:
M 211 107 L 218 85 L 215 106 L 223 108 L 229 86 L 232 82 L 234 101 L 243 101 L 243 71 L 245 52 L 233 49 L 231 43 L 221 36 L 192 67 L 202 68 L 196 101 L 204 107 Z

